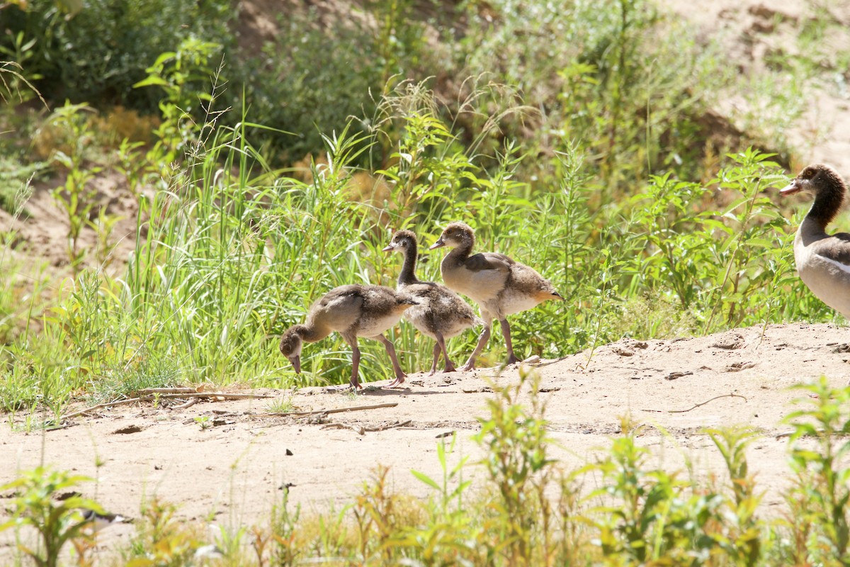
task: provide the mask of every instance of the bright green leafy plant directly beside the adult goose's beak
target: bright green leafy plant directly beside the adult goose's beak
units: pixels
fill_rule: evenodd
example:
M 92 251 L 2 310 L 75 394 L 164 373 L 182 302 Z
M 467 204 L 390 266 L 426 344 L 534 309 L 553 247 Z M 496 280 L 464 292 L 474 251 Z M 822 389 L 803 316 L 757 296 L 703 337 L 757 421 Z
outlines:
M 790 240 L 779 207 L 763 195 L 765 187 L 784 178 L 770 156 L 757 150 L 731 157 L 733 163 L 711 184 L 667 174 L 651 178 L 632 198 L 640 208 L 632 210 L 629 230 L 647 244 L 647 252 L 636 257 L 635 272 L 643 281 L 669 287 L 683 309 L 697 309 L 706 332 L 717 328 L 718 319 L 723 326 L 742 324 L 751 305 L 762 303 L 757 298 L 772 297 L 777 281 L 791 282 L 789 264 L 764 264 L 768 251 L 782 250 Z M 721 191 L 727 204 L 706 207 Z

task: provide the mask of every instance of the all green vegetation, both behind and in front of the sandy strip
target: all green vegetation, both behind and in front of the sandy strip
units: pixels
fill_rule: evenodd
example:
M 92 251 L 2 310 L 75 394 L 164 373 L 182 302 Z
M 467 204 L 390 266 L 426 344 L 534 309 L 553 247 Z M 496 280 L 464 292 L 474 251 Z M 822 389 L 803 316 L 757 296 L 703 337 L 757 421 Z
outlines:
M 362 25 L 294 14 L 252 49 L 240 48 L 235 11 L 220 0 L 0 7 L 0 207 L 11 219 L 0 230 L 0 410 L 13 427 L 139 388 L 344 383 L 339 337 L 311 345 L 296 376 L 280 333 L 332 286 L 393 285 L 397 263 L 381 252 L 393 230 L 428 245 L 453 220 L 473 226 L 480 249 L 539 267 L 567 299 L 512 322 L 520 357 L 834 317 L 796 278 L 794 213 L 770 196 L 793 147 L 763 140 L 798 109 L 743 132 L 723 122 L 711 104 L 740 77 L 653 3 L 461 3 L 428 14 L 376 0 L 354 12 Z M 819 31 L 807 26 L 811 42 Z M 783 88 L 765 79 L 756 94 Z M 111 254 L 124 235 L 95 206 L 93 181 L 107 174 L 138 201 L 129 258 Z M 19 253 L 33 184 L 48 185 L 69 226 L 61 275 Z M 81 244 L 86 231 L 96 246 Z M 423 279 L 439 281 L 437 260 L 424 255 Z M 473 340 L 450 347 L 467 353 Z M 430 343 L 411 326 L 394 342 L 403 367 L 428 366 Z M 501 348 L 491 341 L 482 363 L 501 360 Z M 389 378 L 382 347 L 362 349 L 369 375 Z M 336 516 L 284 501 L 269 523 L 215 541 L 153 502 L 127 564 L 190 564 L 207 543 L 234 565 L 850 560 L 837 463 L 847 392 L 813 385 L 813 409 L 789 417 L 799 483 L 785 522 L 756 513 L 753 432 L 711 432 L 728 465 L 716 484 L 652 468 L 626 418 L 608 456 L 564 471 L 547 458 L 545 408 L 517 399 L 528 380 L 481 419 L 486 486 L 447 467 L 449 440 L 444 477 L 416 474 L 433 489 L 428 502 L 388 492 L 377 469 Z M 817 447 L 799 448 L 804 436 Z M 589 494 L 588 474 L 600 487 Z M 29 525 L 41 538 L 21 558 L 56 564 L 70 542 L 86 564 L 79 510 L 96 502 L 50 509 L 56 490 L 82 482 L 36 471 L 4 487 L 13 519 L 0 529 Z

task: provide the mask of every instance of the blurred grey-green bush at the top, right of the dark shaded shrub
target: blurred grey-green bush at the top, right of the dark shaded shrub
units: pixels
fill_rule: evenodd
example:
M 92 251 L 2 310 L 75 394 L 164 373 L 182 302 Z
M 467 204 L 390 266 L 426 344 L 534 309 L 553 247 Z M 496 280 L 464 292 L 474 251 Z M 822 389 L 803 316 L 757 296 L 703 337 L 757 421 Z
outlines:
M 294 135 L 267 131 L 271 148 L 292 163 L 324 149 L 323 135 L 339 131 L 352 117 L 374 116 L 382 95 L 407 77 L 427 77 L 430 48 L 424 26 L 410 16 L 407 0 L 370 0 L 362 26 L 351 26 L 351 14 L 310 7 L 279 16 L 280 33 L 248 58 L 240 73 L 246 89 L 231 93 L 235 107 L 252 109 L 256 122 L 280 125 Z M 282 104 L 281 104 L 282 103 Z M 366 126 L 366 125 L 364 125 Z M 364 130 L 367 128 L 364 128 Z M 367 158 L 386 156 L 363 155 Z

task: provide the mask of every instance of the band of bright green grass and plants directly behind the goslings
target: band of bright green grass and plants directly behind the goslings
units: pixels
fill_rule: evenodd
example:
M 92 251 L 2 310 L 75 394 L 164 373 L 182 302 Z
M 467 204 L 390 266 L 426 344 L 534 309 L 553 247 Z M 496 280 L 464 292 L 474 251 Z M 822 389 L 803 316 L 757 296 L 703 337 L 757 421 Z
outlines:
M 297 377 L 277 352 L 280 333 L 333 286 L 393 285 L 399 265 L 381 252 L 391 230 L 416 230 L 426 247 L 452 220 L 473 226 L 479 250 L 535 266 L 567 298 L 512 317 L 520 357 L 557 357 L 623 335 L 831 317 L 794 274 L 790 224 L 769 195 L 787 178 L 769 156 L 730 155 L 706 184 L 652 175 L 627 198 L 603 201 L 578 142 L 553 157 L 544 190 L 523 178 L 531 158 L 517 143 L 493 157 L 460 144 L 422 85 L 388 95 L 382 109 L 371 133 L 349 125 L 327 135 L 327 163 L 314 164 L 306 181 L 269 167 L 251 145 L 258 124 L 230 128 L 211 116 L 191 133 L 182 167 L 139 201 L 126 272 L 85 269 L 71 254 L 79 273 L 43 317 L 51 354 L 36 361 L 46 382 L 67 385 L 53 392 L 56 403 L 81 390 L 121 396 L 137 383 L 344 383 L 350 353 L 340 337 L 308 345 Z M 390 165 L 351 165 L 394 133 Z M 364 195 L 364 176 L 366 190 L 380 183 L 383 194 Z M 423 254 L 422 278 L 439 281 L 439 258 Z M 646 309 L 655 301 L 666 309 Z M 430 349 L 414 329 L 391 334 L 405 369 L 428 366 Z M 454 355 L 473 340 L 456 338 Z M 381 345 L 363 343 L 365 374 L 389 378 Z M 24 349 L 14 340 L 6 348 L 10 358 Z M 494 339 L 484 361 L 501 360 L 502 349 Z M 29 399 L 10 389 L 10 400 Z

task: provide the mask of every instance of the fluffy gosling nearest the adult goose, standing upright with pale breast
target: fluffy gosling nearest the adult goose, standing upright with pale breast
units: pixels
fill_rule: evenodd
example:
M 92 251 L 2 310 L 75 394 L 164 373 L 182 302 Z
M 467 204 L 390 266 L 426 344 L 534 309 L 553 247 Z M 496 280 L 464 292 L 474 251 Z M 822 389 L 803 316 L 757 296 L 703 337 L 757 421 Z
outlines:
M 461 370 L 475 368 L 475 359 L 490 339 L 490 326 L 494 318 L 499 320 L 501 334 L 505 337 L 507 364 L 513 364 L 518 359 L 513 354 L 507 315 L 531 309 L 547 299 L 564 301 L 550 281 L 504 254 L 479 252 L 470 256 L 474 245 L 475 233 L 463 223 L 449 224 L 431 245 L 431 249 L 454 247 L 439 266 L 443 281 L 450 289 L 478 303 L 484 319 L 484 331 Z

